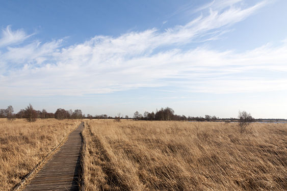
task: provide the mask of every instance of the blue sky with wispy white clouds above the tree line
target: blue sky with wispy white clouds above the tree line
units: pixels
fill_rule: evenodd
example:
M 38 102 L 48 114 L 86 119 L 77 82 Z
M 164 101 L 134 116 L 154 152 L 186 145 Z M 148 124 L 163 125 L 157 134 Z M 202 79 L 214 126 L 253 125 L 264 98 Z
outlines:
M 286 119 L 286 7 L 0 0 L 0 108 Z

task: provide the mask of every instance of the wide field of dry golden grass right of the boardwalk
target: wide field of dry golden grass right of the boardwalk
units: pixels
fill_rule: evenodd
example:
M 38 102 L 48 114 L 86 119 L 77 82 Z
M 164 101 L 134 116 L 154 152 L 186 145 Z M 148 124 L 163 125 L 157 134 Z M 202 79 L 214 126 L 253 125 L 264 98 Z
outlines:
M 285 190 L 287 124 L 90 120 L 86 190 Z

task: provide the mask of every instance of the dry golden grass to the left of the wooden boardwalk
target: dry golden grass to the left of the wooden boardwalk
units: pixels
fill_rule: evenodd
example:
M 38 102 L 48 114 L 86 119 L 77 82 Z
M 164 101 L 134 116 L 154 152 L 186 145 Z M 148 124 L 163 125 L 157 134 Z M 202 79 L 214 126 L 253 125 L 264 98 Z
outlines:
M 0 190 L 9 190 L 27 175 L 80 122 L 0 119 Z

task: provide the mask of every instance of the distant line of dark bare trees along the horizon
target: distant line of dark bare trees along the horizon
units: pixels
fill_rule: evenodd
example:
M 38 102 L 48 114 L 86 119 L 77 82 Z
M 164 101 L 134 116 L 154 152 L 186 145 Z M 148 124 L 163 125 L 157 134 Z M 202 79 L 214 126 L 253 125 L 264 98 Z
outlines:
M 245 111 L 244 111 L 245 112 Z M 45 109 L 42 111 L 34 110 L 32 104 L 29 104 L 24 109 L 20 110 L 18 113 L 14 114 L 14 108 L 12 105 L 9 105 L 6 109 L 0 109 L 0 118 L 7 118 L 10 121 L 13 121 L 16 118 L 22 119 L 25 118 L 30 122 L 36 121 L 36 119 L 134 119 L 134 120 L 150 120 L 150 121 L 239 121 L 243 113 L 239 113 L 238 118 L 219 118 L 216 116 L 205 115 L 204 117 L 186 117 L 185 115 L 176 115 L 174 110 L 170 107 L 161 108 L 160 110 L 156 109 L 155 112 L 144 112 L 143 115 L 138 111 L 134 113 L 132 118 L 129 118 L 127 115 L 123 117 L 120 113 L 111 117 L 106 114 L 102 115 L 90 115 L 85 116 L 81 110 L 64 110 L 63 108 L 58 108 L 55 113 L 48 113 Z M 244 113 L 244 119 L 251 121 L 287 121 L 286 119 L 254 119 L 250 114 Z M 248 117 L 248 118 L 247 118 Z

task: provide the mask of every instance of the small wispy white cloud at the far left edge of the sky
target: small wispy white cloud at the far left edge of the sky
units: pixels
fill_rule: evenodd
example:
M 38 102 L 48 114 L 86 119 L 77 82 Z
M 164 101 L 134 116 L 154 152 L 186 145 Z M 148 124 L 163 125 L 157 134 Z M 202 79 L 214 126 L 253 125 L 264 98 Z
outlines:
M 11 25 L 8 25 L 6 29 L 2 29 L 0 47 L 21 43 L 32 35 L 27 35 L 22 29 L 12 31 Z

